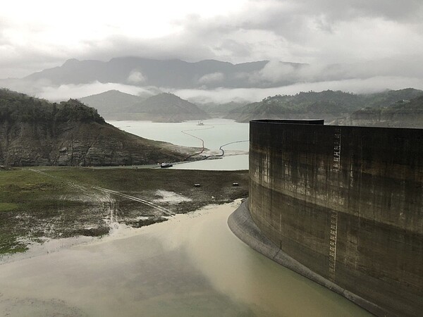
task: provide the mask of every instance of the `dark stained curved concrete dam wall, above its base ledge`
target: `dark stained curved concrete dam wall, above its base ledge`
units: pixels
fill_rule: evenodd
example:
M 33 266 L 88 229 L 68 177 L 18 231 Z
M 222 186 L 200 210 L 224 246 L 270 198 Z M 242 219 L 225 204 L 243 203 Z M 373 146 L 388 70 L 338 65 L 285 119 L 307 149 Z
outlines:
M 388 315 L 423 311 L 423 130 L 250 122 L 252 219 Z

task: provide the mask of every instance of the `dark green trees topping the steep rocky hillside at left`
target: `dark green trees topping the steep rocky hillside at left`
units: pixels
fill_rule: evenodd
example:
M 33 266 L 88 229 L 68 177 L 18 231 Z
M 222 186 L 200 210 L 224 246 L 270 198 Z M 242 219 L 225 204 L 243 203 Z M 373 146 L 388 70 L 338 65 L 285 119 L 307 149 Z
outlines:
M 104 123 L 96 109 L 75 99 L 51 104 L 44 99 L 0 89 L 0 123 L 16 121 L 49 122 L 51 125 L 68 121 Z

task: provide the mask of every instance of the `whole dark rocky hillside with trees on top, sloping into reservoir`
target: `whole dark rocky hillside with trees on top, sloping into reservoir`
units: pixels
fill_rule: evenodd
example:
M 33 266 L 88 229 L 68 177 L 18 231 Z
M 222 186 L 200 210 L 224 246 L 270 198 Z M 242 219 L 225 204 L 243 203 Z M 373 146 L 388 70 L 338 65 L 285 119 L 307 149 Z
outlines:
M 105 123 L 80 101 L 51 104 L 0 89 L 0 165 L 117 166 L 179 161 L 186 155 L 173 144 Z

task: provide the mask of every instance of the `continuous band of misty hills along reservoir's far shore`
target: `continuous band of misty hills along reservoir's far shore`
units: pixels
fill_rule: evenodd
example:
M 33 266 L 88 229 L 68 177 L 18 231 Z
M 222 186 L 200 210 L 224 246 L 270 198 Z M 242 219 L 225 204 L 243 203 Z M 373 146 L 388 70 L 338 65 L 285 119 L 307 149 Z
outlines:
M 205 118 L 228 118 L 238 122 L 255 119 L 321 118 L 339 125 L 422 126 L 414 88 L 386 90 L 374 94 L 324 90 L 298 94 L 276 94 L 252 103 L 192 104 L 175 94 L 161 93 L 144 99 L 116 90 L 81 98 L 111 120 L 180 122 Z M 410 102 L 410 103 L 409 103 Z M 417 106 L 416 106 L 417 102 Z M 390 108 L 391 107 L 391 108 Z M 392 108 L 393 107 L 393 108 Z M 102 110 L 103 109 L 103 110 Z M 392 110 L 392 109 L 395 109 Z M 103 112 L 102 112 L 103 111 Z M 413 117 L 412 111 L 415 111 Z

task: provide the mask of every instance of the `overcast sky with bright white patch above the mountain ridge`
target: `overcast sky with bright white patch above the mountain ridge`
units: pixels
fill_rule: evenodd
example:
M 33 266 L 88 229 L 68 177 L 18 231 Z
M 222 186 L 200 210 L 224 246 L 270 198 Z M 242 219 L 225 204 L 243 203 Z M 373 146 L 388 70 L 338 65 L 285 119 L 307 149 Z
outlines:
M 325 65 L 343 63 L 345 79 L 372 70 L 372 76 L 423 82 L 423 1 L 14 0 L 1 4 L 0 78 L 61 66 L 68 58 L 109 61 L 118 56 L 309 63 L 314 68 L 300 74 L 302 81 L 326 72 Z M 286 75 L 287 70 L 274 65 L 266 75 Z

